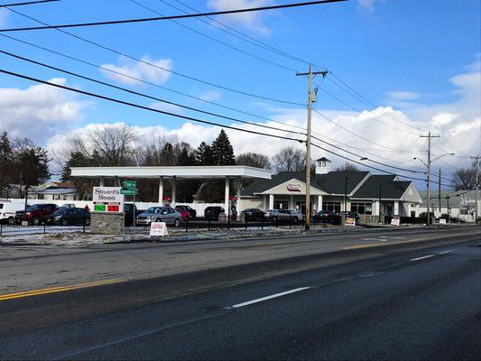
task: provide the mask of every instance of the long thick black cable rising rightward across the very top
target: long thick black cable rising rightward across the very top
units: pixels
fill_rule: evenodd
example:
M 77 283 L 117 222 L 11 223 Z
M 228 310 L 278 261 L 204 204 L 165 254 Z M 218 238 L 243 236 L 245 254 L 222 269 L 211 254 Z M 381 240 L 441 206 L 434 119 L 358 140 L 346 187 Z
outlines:
M 86 27 L 86 26 L 113 25 L 113 24 L 120 24 L 120 23 L 157 22 L 162 20 L 188 19 L 188 18 L 201 17 L 201 16 L 252 13 L 252 12 L 259 12 L 259 11 L 266 11 L 266 10 L 287 9 L 291 7 L 339 3 L 344 1 L 347 1 L 347 0 L 318 0 L 318 1 L 309 1 L 304 3 L 258 6 L 258 7 L 244 8 L 244 9 L 233 9 L 233 10 L 199 13 L 199 14 L 157 16 L 157 17 L 147 17 L 147 18 L 140 18 L 140 19 L 111 20 L 111 21 L 94 22 L 94 23 L 68 23 L 68 24 L 59 24 L 59 25 L 31 26 L 31 27 L 23 27 L 23 28 L 2 29 L 0 30 L 0 32 L 24 32 L 24 31 L 31 31 L 31 30 L 60 29 L 60 28 L 63 29 L 63 28 L 78 28 L 78 27 Z

